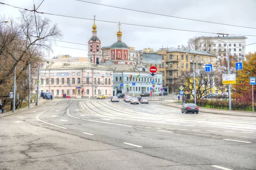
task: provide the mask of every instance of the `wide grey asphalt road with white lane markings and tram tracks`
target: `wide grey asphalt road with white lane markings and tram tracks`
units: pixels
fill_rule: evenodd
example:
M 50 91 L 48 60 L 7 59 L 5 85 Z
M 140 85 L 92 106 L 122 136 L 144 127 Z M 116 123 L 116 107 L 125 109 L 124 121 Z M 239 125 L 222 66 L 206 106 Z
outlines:
M 256 118 L 56 99 L 0 119 L 0 169 L 253 170 Z

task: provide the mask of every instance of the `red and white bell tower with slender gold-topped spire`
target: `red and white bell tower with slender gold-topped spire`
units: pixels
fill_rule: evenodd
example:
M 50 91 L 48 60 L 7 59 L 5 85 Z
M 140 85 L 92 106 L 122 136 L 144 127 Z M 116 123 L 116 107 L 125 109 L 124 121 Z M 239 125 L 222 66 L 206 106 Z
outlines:
M 90 62 L 99 64 L 102 62 L 102 51 L 101 51 L 101 42 L 97 37 L 97 27 L 95 25 L 95 15 L 93 23 L 93 37 L 88 41 L 88 59 Z

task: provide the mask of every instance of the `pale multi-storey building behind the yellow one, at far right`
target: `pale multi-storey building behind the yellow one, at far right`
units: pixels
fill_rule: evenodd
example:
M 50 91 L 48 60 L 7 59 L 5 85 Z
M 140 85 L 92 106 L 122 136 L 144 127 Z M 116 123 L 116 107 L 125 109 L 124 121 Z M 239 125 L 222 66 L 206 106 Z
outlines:
M 244 59 L 245 54 L 245 40 L 247 37 L 232 37 L 232 36 L 218 36 L 218 37 L 198 37 L 200 40 L 201 49 L 204 52 L 209 52 L 217 57 L 227 56 L 227 49 L 230 55 L 237 57 L 238 60 Z M 224 41 L 219 42 L 218 40 Z

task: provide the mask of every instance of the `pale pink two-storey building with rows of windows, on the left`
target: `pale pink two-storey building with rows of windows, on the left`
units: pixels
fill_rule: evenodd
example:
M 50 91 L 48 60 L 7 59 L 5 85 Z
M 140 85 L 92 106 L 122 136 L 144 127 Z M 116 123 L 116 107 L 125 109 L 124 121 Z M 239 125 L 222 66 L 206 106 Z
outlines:
M 40 69 L 40 92 L 50 92 L 53 97 L 62 97 L 65 93 L 71 98 L 113 95 L 113 70 L 110 68 L 91 62 L 45 64 Z M 33 92 L 37 93 L 37 86 Z

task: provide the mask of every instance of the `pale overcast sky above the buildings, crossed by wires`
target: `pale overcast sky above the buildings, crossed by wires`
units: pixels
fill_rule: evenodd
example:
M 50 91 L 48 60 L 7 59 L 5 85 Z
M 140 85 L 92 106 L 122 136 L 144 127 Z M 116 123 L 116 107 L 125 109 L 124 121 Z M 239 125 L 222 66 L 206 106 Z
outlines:
M 42 0 L 34 0 L 36 8 Z M 176 17 L 184 17 L 195 20 L 204 20 L 215 23 L 226 23 L 237 26 L 256 28 L 256 0 L 84 0 L 88 2 L 101 3 L 109 6 L 131 8 L 134 10 L 148 11 L 159 14 L 166 14 Z M 21 8 L 33 9 L 33 0 L 0 0 Z M 195 3 L 196 2 L 196 3 Z M 17 8 L 0 4 L 0 15 L 5 17 L 18 17 Z M 44 0 L 38 8 L 40 12 L 60 14 L 73 17 L 82 17 L 111 22 L 131 23 L 145 26 L 156 26 L 165 28 L 185 29 L 193 31 L 206 31 L 225 34 L 256 35 L 256 29 L 224 26 L 212 23 L 202 23 L 191 20 L 183 20 L 173 17 L 165 17 L 154 14 L 145 14 L 136 11 L 99 6 L 90 3 L 83 3 L 76 0 Z M 71 19 L 48 14 L 41 14 L 49 17 L 52 23 L 57 23 L 62 31 L 62 41 L 87 44 L 92 37 L 93 21 L 82 19 Z M 112 45 L 117 41 L 116 23 L 105 23 L 96 21 L 97 37 L 102 46 Z M 186 31 L 175 31 L 160 28 L 147 28 L 140 26 L 129 26 L 122 24 L 122 41 L 137 50 L 143 48 L 154 48 L 154 51 L 165 47 L 176 47 L 186 45 L 191 37 L 216 36 Z M 247 37 L 246 45 L 255 43 L 256 37 Z M 85 45 L 76 45 L 66 42 L 56 42 L 59 46 L 79 48 L 87 50 Z M 50 57 L 58 54 L 70 54 L 72 57 L 87 57 L 87 51 L 75 50 L 53 46 L 54 52 Z M 247 52 L 256 51 L 256 44 L 246 46 Z

